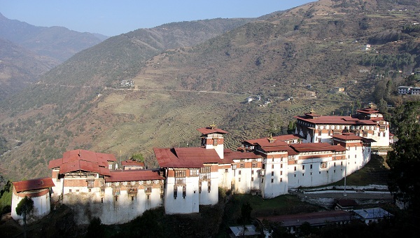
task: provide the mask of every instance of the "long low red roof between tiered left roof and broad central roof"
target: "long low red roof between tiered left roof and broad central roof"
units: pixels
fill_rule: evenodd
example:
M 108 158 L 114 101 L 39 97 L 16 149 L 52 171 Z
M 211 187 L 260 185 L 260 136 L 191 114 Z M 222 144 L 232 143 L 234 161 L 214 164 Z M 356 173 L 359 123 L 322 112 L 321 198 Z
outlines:
M 112 171 L 109 177 L 105 177 L 106 182 L 125 182 L 125 181 L 145 181 L 165 179 L 159 175 L 159 172 L 151 170 L 120 170 Z

